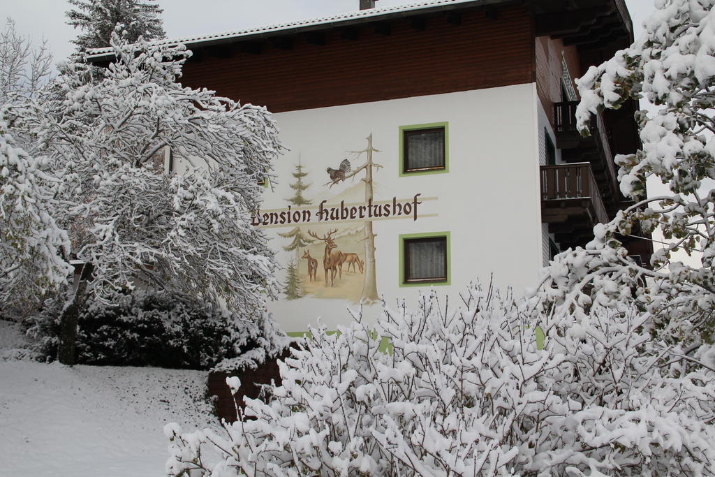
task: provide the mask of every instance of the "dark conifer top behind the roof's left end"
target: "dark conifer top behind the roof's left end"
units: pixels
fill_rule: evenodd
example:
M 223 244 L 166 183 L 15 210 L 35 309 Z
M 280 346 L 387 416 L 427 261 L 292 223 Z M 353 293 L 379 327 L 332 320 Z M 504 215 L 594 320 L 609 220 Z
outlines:
M 83 31 L 73 41 L 79 51 L 109 46 L 117 24 L 127 31 L 127 41 L 142 36 L 145 40 L 162 39 L 162 10 L 157 0 L 68 0 L 74 6 L 66 12 L 67 24 Z

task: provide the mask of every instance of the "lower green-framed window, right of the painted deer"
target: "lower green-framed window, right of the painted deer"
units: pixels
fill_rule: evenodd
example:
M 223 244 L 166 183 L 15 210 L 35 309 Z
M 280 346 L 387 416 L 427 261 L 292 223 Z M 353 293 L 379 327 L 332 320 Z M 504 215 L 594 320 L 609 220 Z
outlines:
M 400 286 L 449 285 L 449 232 L 400 235 Z

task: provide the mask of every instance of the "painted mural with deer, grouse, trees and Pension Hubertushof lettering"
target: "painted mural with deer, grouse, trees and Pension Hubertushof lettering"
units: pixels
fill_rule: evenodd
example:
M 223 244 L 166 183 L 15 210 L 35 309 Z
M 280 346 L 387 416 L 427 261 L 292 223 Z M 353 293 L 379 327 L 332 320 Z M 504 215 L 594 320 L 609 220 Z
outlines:
M 423 216 L 418 209 L 425 198 L 419 193 L 375 200 L 373 177 L 383 166 L 373 161 L 379 151 L 373 147 L 372 134 L 367 142 L 363 150 L 347 151 L 349 157 L 335 164 L 337 168 L 327 167 L 324 184 L 323 173 L 307 168 L 299 154 L 287 207 L 259 210 L 252 217 L 256 227 L 285 229 L 277 232 L 274 243 L 290 257 L 282 287 L 288 300 L 311 296 L 353 303 L 378 301 L 373 222 Z

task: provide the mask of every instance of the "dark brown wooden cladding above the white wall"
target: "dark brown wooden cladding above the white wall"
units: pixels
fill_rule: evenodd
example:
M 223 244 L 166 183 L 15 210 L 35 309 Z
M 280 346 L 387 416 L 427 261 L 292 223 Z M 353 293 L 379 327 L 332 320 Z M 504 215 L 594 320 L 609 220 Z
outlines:
M 529 83 L 531 25 L 509 6 L 210 46 L 194 50 L 182 84 L 285 112 Z

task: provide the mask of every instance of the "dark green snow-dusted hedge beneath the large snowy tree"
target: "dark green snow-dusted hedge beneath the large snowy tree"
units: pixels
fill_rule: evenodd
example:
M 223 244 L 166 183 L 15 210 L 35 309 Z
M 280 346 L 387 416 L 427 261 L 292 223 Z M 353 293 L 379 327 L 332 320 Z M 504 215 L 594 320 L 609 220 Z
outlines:
M 57 355 L 65 297 L 46 300 L 28 320 L 28 333 L 48 359 Z M 282 351 L 270 316 L 242 320 L 167 294 L 117 294 L 107 305 L 92 300 L 79 312 L 77 363 L 209 369 L 255 365 Z

